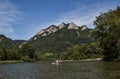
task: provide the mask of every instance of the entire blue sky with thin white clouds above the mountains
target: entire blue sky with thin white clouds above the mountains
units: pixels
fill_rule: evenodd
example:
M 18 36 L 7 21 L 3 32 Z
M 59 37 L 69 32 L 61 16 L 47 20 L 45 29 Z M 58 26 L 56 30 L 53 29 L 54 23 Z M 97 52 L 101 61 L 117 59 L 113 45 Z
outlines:
M 0 34 L 28 40 L 62 22 L 94 28 L 101 12 L 120 6 L 120 0 L 0 0 Z

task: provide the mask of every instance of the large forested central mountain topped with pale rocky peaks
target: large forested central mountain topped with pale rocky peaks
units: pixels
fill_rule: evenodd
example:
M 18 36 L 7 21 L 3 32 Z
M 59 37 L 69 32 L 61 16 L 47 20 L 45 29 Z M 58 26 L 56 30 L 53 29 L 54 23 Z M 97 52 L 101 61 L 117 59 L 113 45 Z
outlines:
M 27 43 L 32 44 L 40 54 L 46 52 L 61 54 L 68 47 L 92 42 L 91 32 L 92 29 L 86 25 L 77 26 L 73 22 L 61 23 L 41 30 Z

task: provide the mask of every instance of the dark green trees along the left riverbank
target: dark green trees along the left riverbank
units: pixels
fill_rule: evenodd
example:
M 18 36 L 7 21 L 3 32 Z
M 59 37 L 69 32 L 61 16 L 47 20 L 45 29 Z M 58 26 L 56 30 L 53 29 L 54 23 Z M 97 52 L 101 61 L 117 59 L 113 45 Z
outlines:
M 23 44 L 21 47 L 14 47 L 13 49 L 0 48 L 0 60 L 22 60 L 22 61 L 36 61 L 37 54 L 33 46 Z

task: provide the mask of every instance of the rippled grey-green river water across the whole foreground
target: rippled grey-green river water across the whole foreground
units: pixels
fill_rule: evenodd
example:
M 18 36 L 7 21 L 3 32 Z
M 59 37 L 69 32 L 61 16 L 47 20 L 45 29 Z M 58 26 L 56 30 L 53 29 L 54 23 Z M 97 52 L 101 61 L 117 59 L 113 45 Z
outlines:
M 0 79 L 120 79 L 120 62 L 0 64 Z

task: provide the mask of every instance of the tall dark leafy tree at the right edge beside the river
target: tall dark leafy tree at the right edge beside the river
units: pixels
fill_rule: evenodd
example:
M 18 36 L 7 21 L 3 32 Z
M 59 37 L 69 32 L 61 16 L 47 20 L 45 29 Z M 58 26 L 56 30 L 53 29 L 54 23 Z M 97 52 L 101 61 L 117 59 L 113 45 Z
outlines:
M 101 13 L 94 25 L 94 36 L 103 49 L 104 59 L 114 61 L 120 55 L 117 47 L 120 40 L 120 7 Z

